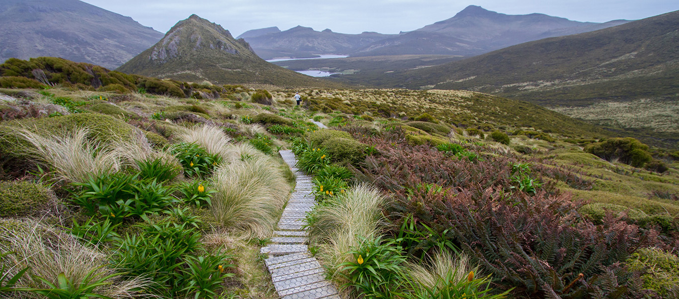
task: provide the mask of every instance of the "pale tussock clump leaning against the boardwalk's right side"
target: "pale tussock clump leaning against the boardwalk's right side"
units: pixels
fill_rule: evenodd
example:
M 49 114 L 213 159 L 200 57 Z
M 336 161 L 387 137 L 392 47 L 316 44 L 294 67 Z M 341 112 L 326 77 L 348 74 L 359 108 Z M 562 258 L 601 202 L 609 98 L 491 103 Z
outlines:
M 309 238 L 319 247 L 318 256 L 336 275 L 339 264 L 352 258 L 347 252 L 361 245 L 361 238 L 378 236 L 386 197 L 377 188 L 361 184 L 325 200 L 314 209 Z

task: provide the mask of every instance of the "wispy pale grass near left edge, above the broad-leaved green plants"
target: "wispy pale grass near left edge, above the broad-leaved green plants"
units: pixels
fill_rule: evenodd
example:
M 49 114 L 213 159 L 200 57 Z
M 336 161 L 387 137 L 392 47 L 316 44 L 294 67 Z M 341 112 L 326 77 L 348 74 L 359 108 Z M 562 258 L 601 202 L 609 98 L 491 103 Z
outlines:
M 110 145 L 88 139 L 88 128 L 51 137 L 43 137 L 26 128 L 8 128 L 10 134 L 29 143 L 20 143 L 22 152 L 50 166 L 59 180 L 85 181 L 91 175 L 115 173 L 125 166 L 120 152 Z

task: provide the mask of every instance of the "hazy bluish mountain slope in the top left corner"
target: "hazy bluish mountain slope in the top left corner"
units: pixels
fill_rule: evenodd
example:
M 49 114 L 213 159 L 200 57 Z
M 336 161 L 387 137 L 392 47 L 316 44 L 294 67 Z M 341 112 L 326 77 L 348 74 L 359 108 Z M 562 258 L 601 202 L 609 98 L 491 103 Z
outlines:
M 78 0 L 2 0 L 0 20 L 0 62 L 56 56 L 115 69 L 163 37 Z

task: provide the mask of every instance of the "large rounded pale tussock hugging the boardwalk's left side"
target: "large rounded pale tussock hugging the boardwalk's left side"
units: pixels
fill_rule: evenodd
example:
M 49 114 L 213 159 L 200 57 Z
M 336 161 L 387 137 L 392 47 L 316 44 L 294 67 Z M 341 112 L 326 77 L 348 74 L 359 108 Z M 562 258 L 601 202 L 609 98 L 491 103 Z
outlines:
M 290 186 L 270 161 L 247 158 L 217 169 L 213 177 L 217 192 L 212 200 L 217 222 L 259 238 L 272 232 Z

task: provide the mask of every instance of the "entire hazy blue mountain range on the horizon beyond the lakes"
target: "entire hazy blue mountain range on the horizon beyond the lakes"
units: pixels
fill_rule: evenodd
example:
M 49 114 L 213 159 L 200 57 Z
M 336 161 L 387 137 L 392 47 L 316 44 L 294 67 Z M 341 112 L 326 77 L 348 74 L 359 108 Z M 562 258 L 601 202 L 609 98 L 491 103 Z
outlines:
M 348 35 L 329 29 L 256 29 L 240 35 L 262 58 L 314 57 L 314 54 L 394 56 L 437 54 L 474 56 L 546 37 L 571 35 L 629 22 L 576 22 L 545 14 L 507 15 L 469 5 L 454 17 L 398 35 Z

